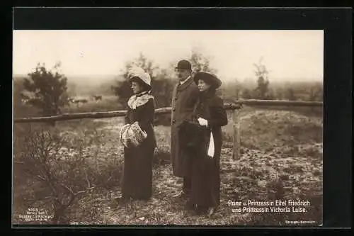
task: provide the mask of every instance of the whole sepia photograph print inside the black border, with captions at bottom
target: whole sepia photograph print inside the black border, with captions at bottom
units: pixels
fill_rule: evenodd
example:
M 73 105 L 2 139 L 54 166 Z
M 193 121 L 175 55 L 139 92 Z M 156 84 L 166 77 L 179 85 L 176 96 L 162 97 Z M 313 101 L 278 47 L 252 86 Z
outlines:
M 13 224 L 321 226 L 324 30 L 13 30 Z

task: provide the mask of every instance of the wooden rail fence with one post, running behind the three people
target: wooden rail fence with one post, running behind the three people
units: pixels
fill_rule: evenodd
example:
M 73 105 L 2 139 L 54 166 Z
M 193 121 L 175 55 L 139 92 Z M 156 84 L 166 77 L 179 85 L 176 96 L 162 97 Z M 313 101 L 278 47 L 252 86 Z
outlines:
M 224 108 L 227 111 L 233 111 L 233 158 L 239 159 L 240 146 L 241 146 L 241 134 L 240 134 L 240 122 L 239 122 L 239 110 L 242 105 L 246 106 L 307 106 L 307 107 L 321 107 L 322 102 L 318 101 L 275 101 L 275 100 L 237 100 L 234 103 L 225 103 Z M 67 113 L 58 116 L 48 117 L 33 117 L 33 118 L 15 118 L 14 123 L 33 123 L 33 122 L 53 122 L 60 120 L 76 120 L 83 118 L 112 118 L 125 116 L 127 111 L 102 111 L 102 112 L 89 112 L 89 113 Z M 156 115 L 170 114 L 171 107 L 157 108 L 155 110 Z

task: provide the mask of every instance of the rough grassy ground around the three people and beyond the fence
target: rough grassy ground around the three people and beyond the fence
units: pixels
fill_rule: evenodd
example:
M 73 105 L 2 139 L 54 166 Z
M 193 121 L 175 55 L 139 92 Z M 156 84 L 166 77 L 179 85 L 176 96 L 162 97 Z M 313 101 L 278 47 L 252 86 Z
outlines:
M 113 111 L 101 102 L 86 103 L 69 112 Z M 230 114 L 229 114 L 230 115 Z M 281 111 L 244 107 L 241 109 L 241 157 L 232 159 L 232 118 L 223 127 L 221 156 L 221 204 L 210 217 L 184 210 L 183 201 L 173 198 L 181 190 L 181 179 L 171 174 L 169 161 L 170 127 L 156 125 L 158 149 L 154 156 L 153 196 L 149 201 L 120 205 L 122 145 L 118 137 L 122 118 L 72 120 L 57 123 L 56 134 L 67 142 L 61 157 L 73 158 L 78 143 L 86 142 L 81 155 L 86 165 L 100 171 L 101 178 L 113 179 L 108 186 L 82 195 L 67 210 L 70 224 L 108 225 L 288 225 L 285 220 L 322 223 L 322 117 L 307 111 Z M 18 132 L 26 125 L 16 125 Z M 90 141 L 88 141 L 90 140 Z M 24 143 L 18 141 L 18 146 Z M 15 150 L 18 154 L 20 150 Z M 16 158 L 16 157 L 15 157 Z M 18 175 L 21 173 L 18 173 Z M 114 178 L 113 178 L 114 176 Z M 97 178 L 96 178 L 97 179 Z M 98 180 L 96 180 L 98 181 Z M 99 181 L 98 181 L 99 182 Z M 36 181 L 18 181 L 14 194 L 15 223 L 19 214 L 32 207 L 46 206 L 35 201 Z M 31 185 L 32 184 L 32 185 Z M 32 200 L 31 200 L 32 199 Z M 304 200 L 304 213 L 233 212 L 228 201 Z M 44 204 L 44 205 L 43 205 Z M 44 208 L 44 207 L 42 207 Z M 290 207 L 291 209 L 291 207 Z M 309 223 L 306 225 L 310 225 Z M 293 225 L 290 225 L 293 226 Z

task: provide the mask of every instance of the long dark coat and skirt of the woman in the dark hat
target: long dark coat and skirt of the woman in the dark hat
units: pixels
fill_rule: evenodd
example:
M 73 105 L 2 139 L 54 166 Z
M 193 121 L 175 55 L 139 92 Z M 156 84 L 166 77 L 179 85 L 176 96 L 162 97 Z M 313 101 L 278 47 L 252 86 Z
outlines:
M 190 202 L 198 206 L 218 206 L 220 201 L 220 152 L 222 147 L 222 126 L 227 125 L 227 113 L 224 110 L 222 99 L 215 95 L 215 91 L 200 93 L 195 108 L 195 118 L 207 120 L 208 126 L 196 125 L 195 134 L 200 141 L 190 137 L 185 142 L 198 142 L 199 148 L 193 148 L 194 156 L 191 159 L 192 190 Z M 198 128 L 197 128 L 198 127 Z M 188 128 L 191 130 L 192 128 Z M 210 131 L 214 137 L 215 154 L 207 157 L 207 148 L 210 141 Z M 195 136 L 197 137 L 197 136 Z M 185 145 L 185 143 L 184 143 Z

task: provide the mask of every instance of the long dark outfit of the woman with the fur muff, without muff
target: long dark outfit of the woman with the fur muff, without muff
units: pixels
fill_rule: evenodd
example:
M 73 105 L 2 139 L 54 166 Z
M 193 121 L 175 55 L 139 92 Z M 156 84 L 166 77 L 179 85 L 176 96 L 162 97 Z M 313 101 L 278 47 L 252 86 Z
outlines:
M 135 109 L 128 106 L 125 123 L 139 123 L 147 133 L 147 138 L 139 147 L 124 148 L 124 169 L 122 194 L 135 199 L 147 199 L 152 196 L 152 158 L 156 147 L 154 134 L 154 97 L 147 96 L 146 101 Z

